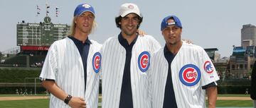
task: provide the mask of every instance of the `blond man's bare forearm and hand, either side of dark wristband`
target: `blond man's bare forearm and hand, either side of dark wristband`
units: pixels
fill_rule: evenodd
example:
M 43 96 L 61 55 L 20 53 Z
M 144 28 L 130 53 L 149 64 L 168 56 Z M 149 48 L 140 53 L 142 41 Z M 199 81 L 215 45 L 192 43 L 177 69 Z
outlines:
M 46 88 L 50 93 L 52 93 L 55 97 L 58 97 L 60 100 L 65 100 L 68 96 L 63 90 L 61 90 L 58 85 L 53 80 L 43 80 L 42 83 L 44 88 Z M 70 107 L 86 107 L 85 100 L 82 97 L 72 97 L 68 102 Z

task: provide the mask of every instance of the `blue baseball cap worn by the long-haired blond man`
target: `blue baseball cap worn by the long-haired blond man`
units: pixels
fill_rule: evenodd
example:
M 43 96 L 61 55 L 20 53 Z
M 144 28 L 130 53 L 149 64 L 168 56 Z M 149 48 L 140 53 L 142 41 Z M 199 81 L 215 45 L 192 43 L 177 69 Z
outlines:
M 95 16 L 95 11 L 94 11 L 93 7 L 90 6 L 90 4 L 79 4 L 75 8 L 74 16 L 81 16 L 81 14 L 86 11 L 91 12 Z

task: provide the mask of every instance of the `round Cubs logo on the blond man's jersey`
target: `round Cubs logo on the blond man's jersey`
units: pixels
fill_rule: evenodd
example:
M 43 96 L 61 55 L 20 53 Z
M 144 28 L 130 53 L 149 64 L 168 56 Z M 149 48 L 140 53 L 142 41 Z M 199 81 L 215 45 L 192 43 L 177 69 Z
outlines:
M 100 63 L 101 62 L 101 54 L 100 52 L 96 52 L 92 57 L 92 68 L 95 71 L 95 73 L 98 73 L 100 71 Z

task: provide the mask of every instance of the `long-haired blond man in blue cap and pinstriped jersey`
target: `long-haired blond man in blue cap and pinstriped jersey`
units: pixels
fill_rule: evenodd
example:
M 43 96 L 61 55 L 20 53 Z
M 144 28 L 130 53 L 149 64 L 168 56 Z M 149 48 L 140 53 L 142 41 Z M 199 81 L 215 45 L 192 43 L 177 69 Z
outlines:
M 41 83 L 50 95 L 50 108 L 97 108 L 101 44 L 89 40 L 95 28 L 90 4 L 75 8 L 70 35 L 55 41 L 41 71 Z

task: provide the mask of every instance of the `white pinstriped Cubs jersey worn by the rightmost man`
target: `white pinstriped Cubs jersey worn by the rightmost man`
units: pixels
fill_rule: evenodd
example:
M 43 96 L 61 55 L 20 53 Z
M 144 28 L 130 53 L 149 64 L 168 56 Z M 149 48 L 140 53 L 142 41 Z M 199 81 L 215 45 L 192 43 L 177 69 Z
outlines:
M 163 107 L 168 74 L 168 61 L 164 48 L 154 53 L 149 71 L 150 92 L 153 108 Z M 183 42 L 171 62 L 171 79 L 177 107 L 206 107 L 205 90 L 202 86 L 219 80 L 213 63 L 202 47 Z

